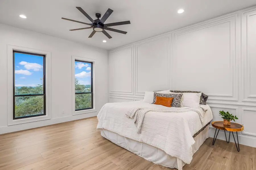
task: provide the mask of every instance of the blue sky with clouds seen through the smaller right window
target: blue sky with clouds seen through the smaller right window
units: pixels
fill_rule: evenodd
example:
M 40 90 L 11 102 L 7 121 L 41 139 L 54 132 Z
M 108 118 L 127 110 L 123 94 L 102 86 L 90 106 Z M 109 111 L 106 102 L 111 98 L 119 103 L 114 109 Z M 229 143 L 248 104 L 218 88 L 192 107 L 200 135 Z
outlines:
M 91 63 L 75 61 L 75 78 L 80 84 L 91 84 Z

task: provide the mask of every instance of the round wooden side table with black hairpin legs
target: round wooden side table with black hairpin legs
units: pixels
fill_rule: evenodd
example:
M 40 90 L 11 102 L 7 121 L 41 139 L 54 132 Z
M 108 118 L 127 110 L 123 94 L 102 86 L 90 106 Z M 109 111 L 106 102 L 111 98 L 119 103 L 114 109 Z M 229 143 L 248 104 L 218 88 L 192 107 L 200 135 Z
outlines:
M 238 147 L 236 145 L 236 149 L 237 149 L 238 152 L 240 151 L 237 132 L 243 131 L 243 125 L 238 124 L 238 123 L 233 123 L 233 122 L 230 122 L 230 125 L 224 125 L 223 121 L 214 121 L 214 122 L 212 122 L 212 126 L 214 128 L 216 128 L 215 133 L 214 133 L 214 137 L 213 137 L 213 141 L 212 141 L 212 145 L 214 145 L 220 129 L 224 130 L 225 137 L 226 137 L 226 131 L 229 131 L 229 138 L 228 138 L 228 140 L 227 140 L 227 137 L 226 137 L 226 142 L 227 143 L 229 143 L 229 140 L 230 140 L 230 132 L 232 132 L 233 137 L 234 137 L 234 133 L 233 132 L 236 132 L 237 143 L 238 143 Z M 219 130 L 218 130 L 218 133 L 216 135 L 217 129 L 219 129 Z M 215 137 L 215 135 L 216 135 L 216 137 Z M 214 140 L 214 138 L 215 138 L 215 140 Z M 235 137 L 234 137 L 234 141 L 235 141 L 235 144 L 236 144 Z

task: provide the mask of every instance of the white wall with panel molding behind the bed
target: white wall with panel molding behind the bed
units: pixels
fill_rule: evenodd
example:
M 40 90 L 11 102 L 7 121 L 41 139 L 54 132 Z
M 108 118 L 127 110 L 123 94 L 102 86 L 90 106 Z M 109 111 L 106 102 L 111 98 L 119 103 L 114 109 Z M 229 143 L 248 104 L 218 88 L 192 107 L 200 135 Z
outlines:
M 238 116 L 240 143 L 256 147 L 255 47 L 252 7 L 113 49 L 109 102 L 141 100 L 144 91 L 202 91 L 213 121 L 222 120 L 220 110 Z M 211 127 L 209 135 L 214 132 Z M 218 138 L 224 140 L 224 132 Z

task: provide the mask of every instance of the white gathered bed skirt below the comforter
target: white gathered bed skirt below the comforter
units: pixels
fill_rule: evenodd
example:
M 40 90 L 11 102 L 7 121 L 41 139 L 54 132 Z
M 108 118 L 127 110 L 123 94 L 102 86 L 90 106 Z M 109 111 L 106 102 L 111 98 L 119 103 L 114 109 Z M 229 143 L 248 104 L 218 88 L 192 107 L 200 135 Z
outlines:
M 207 126 L 196 137 L 194 137 L 195 144 L 192 146 L 193 154 L 208 138 L 208 130 L 209 126 Z M 169 168 L 176 168 L 178 170 L 182 170 L 182 167 L 185 165 L 185 163 L 179 158 L 172 157 L 166 154 L 166 152 L 163 150 L 154 146 L 123 137 L 106 129 L 101 129 L 100 133 L 104 138 L 110 140 L 112 143 L 121 146 L 122 148 L 125 148 L 126 150 L 129 150 L 130 152 L 133 152 L 134 154 L 158 165 Z

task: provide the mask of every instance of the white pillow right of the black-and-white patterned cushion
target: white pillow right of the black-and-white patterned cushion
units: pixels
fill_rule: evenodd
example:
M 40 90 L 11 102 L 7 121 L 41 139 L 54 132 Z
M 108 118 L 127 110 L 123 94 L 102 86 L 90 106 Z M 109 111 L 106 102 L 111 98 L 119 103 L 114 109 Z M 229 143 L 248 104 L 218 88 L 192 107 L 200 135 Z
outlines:
M 170 92 L 173 93 L 173 92 Z M 182 93 L 183 94 L 183 101 L 182 105 L 184 107 L 192 107 L 198 106 L 200 103 L 200 97 L 202 93 Z

